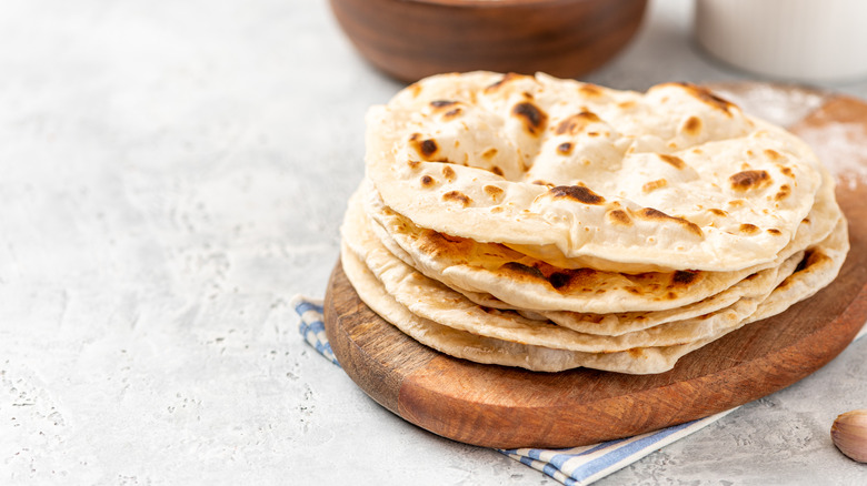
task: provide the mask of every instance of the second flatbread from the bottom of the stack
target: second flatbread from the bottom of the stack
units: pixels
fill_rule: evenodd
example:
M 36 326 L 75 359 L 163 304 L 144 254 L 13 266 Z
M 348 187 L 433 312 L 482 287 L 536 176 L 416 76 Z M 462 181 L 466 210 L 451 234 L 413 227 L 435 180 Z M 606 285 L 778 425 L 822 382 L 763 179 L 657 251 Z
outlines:
M 345 245 L 366 264 L 385 292 L 412 314 L 480 336 L 588 353 L 687 344 L 735 328 L 795 271 L 803 256 L 801 253 L 793 255 L 779 267 L 765 270 L 756 274 L 755 279 L 745 280 L 740 286 L 747 296 L 725 308 L 704 313 L 696 308 L 691 318 L 661 322 L 655 326 L 645 325 L 654 318 L 648 318 L 647 314 L 638 315 L 635 322 L 620 316 L 619 322 L 629 331 L 617 330 L 612 335 L 604 336 L 527 318 L 515 311 L 497 311 L 477 305 L 440 282 L 421 275 L 391 254 L 370 232 L 369 224 L 357 206 L 347 211 L 341 227 Z

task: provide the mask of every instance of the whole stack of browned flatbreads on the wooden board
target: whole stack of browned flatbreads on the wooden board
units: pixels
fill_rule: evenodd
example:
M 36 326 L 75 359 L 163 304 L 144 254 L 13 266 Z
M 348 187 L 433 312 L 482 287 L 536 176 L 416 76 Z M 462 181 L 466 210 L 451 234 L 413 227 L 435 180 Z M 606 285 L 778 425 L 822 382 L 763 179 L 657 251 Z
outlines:
M 661 373 L 818 292 L 849 247 L 813 151 L 695 85 L 445 74 L 367 124 L 343 271 L 452 356 Z

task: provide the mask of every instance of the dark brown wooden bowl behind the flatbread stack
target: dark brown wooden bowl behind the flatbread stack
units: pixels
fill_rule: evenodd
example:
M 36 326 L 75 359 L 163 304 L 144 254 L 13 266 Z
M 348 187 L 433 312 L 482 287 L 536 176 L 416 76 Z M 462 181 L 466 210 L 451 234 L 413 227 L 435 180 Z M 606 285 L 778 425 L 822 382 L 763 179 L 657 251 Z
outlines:
M 647 0 L 330 0 L 373 65 L 412 82 L 489 70 L 577 78 L 619 52 Z

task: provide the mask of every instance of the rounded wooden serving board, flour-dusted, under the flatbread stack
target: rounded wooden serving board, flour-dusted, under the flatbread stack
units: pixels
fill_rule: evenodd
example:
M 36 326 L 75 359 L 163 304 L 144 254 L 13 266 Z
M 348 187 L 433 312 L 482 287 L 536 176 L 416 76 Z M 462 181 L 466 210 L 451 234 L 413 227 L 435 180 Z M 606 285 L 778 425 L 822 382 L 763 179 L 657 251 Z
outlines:
M 850 158 L 846 164 L 829 160 L 833 170 L 844 171 L 837 174 L 837 198 L 851 242 L 830 286 L 784 314 L 686 355 L 667 373 L 535 373 L 471 363 L 418 344 L 359 300 L 338 263 L 326 294 L 325 320 L 346 373 L 391 412 L 455 441 L 500 448 L 571 447 L 745 404 L 837 356 L 867 320 L 867 179 L 861 182 L 857 165 L 867 166 L 867 143 L 857 151 L 860 141 L 867 141 L 867 103 L 777 84 L 712 88 L 759 117 L 769 109 L 767 103 L 776 103 L 770 107 L 776 114 L 766 114 L 776 117 L 781 110 L 788 119 L 777 121 L 805 136 L 821 159 Z

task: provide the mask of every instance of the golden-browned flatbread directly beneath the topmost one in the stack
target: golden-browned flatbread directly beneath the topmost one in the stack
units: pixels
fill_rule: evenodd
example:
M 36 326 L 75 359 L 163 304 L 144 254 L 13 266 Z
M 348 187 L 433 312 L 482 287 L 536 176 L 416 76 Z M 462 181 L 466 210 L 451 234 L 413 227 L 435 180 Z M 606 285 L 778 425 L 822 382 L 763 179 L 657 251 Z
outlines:
M 770 263 L 734 272 L 646 272 L 624 274 L 594 269 L 561 269 L 497 243 L 480 243 L 420 227 L 386 206 L 362 183 L 367 213 L 381 229 L 380 240 L 422 274 L 495 308 L 610 314 L 682 307 L 724 292 L 737 282 L 824 240 L 841 216 L 827 171 L 809 217 Z M 506 303 L 497 305 L 494 296 Z

